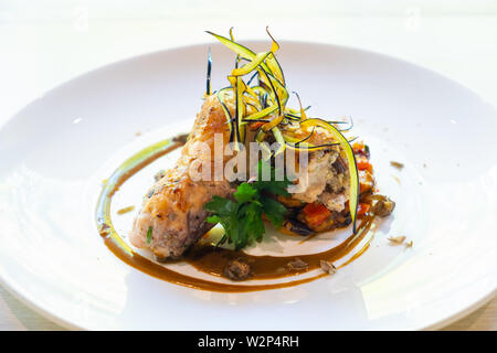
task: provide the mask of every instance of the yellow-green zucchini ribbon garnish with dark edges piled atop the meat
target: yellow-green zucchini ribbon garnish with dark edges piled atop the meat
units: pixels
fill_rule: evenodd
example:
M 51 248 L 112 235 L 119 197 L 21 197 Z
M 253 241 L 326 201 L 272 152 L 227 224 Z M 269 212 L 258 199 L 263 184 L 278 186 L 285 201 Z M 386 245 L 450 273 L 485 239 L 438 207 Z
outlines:
M 216 93 L 226 120 L 230 126 L 230 142 L 234 142 L 235 149 L 239 143 L 245 143 L 246 125 L 257 122 L 255 141 L 267 150 L 263 143 L 266 138 L 272 135 L 279 143 L 275 154 L 282 153 L 286 148 L 302 151 L 317 151 L 339 146 L 346 154 L 348 170 L 350 175 L 349 191 L 349 211 L 353 224 L 353 233 L 356 233 L 357 207 L 359 200 L 359 176 L 356 164 L 356 157 L 350 142 L 355 139 L 347 139 L 342 132 L 349 131 L 353 127 L 353 122 L 339 120 L 325 120 L 320 118 L 308 117 L 306 111 L 310 107 L 303 108 L 300 97 L 297 93 L 299 109 L 292 109 L 286 106 L 288 101 L 288 90 L 286 89 L 285 76 L 275 53 L 279 49 L 279 44 L 271 35 L 268 29 L 266 32 L 272 40 L 271 49 L 266 52 L 255 53 L 248 47 L 235 42 L 232 29 L 230 30 L 230 39 L 207 31 L 213 35 L 226 47 L 236 54 L 235 67 L 228 76 L 230 86 L 220 89 Z M 243 63 L 243 65 L 241 65 Z M 211 55 L 208 56 L 208 81 L 207 95 L 211 95 Z M 243 77 L 252 74 L 245 83 Z M 255 79 L 256 78 L 256 79 Z M 254 82 L 254 84 L 253 84 Z M 234 101 L 234 116 L 230 113 L 228 99 Z M 345 129 L 339 129 L 341 124 L 350 124 Z M 296 138 L 292 133 L 292 128 L 309 131 L 309 135 Z M 309 142 L 313 133 L 317 128 L 327 130 L 332 140 L 329 143 L 313 145 Z M 267 153 L 266 153 L 267 156 Z M 271 156 L 271 154 L 269 154 Z

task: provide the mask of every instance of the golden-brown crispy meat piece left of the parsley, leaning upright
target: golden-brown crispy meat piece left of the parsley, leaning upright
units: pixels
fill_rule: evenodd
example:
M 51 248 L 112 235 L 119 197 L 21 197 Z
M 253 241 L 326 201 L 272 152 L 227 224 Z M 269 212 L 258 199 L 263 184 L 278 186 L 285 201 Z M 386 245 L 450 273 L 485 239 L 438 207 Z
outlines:
M 162 172 L 162 178 L 145 196 L 142 208 L 134 221 L 133 245 L 150 248 L 158 259 L 178 258 L 213 226 L 205 221 L 204 204 L 213 195 L 231 195 L 234 189 L 224 179 L 192 180 L 191 172 L 205 171 L 210 158 L 213 173 L 214 133 L 221 133 L 223 143 L 229 142 L 230 131 L 222 107 L 215 96 L 210 96 L 197 115 L 180 159 L 172 169 Z M 151 239 L 148 242 L 150 227 Z

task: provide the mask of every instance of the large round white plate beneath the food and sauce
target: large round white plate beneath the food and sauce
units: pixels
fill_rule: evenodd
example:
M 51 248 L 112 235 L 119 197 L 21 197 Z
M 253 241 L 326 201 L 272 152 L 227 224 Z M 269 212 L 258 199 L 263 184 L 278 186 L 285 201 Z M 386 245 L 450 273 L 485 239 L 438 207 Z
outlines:
M 94 222 L 101 182 L 140 148 L 190 129 L 205 52 L 207 45 L 190 46 L 106 66 L 47 93 L 1 128 L 7 288 L 81 329 L 433 329 L 491 298 L 495 108 L 426 69 L 330 45 L 286 42 L 278 57 L 289 88 L 314 114 L 355 118 L 381 191 L 398 203 L 363 256 L 308 285 L 226 295 L 158 280 L 109 253 Z M 233 55 L 213 45 L 212 56 L 219 88 Z M 391 160 L 405 168 L 393 169 Z M 144 182 L 115 202 L 139 204 L 150 179 Z M 395 235 L 414 246 L 389 246 Z

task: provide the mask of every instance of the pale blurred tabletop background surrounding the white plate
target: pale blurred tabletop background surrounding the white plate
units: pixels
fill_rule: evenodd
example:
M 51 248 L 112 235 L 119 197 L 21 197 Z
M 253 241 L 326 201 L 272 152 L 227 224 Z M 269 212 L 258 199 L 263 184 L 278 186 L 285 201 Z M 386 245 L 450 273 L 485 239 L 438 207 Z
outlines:
M 96 67 L 204 33 L 340 44 L 436 71 L 497 106 L 497 0 L 0 0 L 0 125 Z M 1 162 L 1 161 L 0 161 Z M 452 329 L 497 330 L 497 302 Z M 57 329 L 0 286 L 0 330 Z

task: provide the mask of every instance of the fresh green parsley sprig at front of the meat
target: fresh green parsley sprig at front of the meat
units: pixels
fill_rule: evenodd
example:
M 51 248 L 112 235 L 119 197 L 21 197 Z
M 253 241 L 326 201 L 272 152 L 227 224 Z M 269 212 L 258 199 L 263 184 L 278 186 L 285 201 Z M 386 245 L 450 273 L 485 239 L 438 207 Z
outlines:
M 262 180 L 268 175 L 268 181 Z M 220 223 L 224 228 L 224 236 L 218 243 L 228 240 L 235 249 L 242 249 L 255 242 L 261 242 L 265 233 L 262 215 L 267 217 L 275 227 L 283 224 L 286 207 L 271 195 L 289 196 L 286 188 L 288 179 L 276 180 L 276 171 L 268 162 L 258 163 L 258 176 L 250 183 L 241 183 L 233 194 L 234 200 L 213 196 L 205 204 L 205 210 L 212 212 L 209 223 Z

